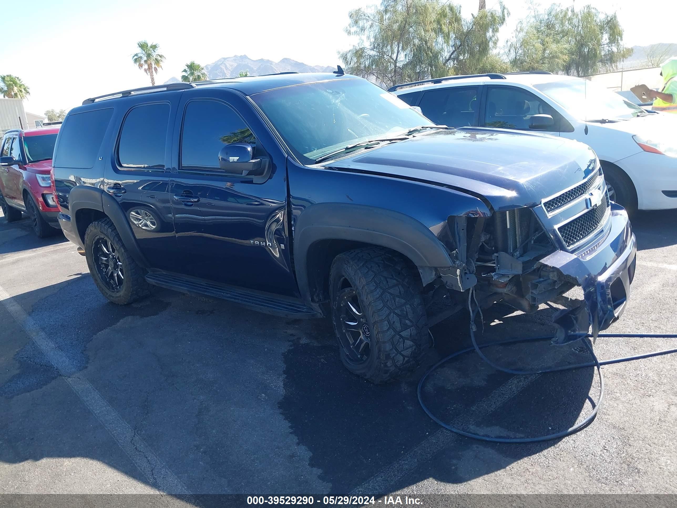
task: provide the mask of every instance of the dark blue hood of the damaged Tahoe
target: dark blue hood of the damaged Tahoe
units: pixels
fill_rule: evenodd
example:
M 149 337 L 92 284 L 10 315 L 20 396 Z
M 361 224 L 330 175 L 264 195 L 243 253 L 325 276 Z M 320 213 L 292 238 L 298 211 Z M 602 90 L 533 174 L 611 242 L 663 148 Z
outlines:
M 496 129 L 431 131 L 325 165 L 418 179 L 483 196 L 494 210 L 533 206 L 590 175 L 589 146 Z

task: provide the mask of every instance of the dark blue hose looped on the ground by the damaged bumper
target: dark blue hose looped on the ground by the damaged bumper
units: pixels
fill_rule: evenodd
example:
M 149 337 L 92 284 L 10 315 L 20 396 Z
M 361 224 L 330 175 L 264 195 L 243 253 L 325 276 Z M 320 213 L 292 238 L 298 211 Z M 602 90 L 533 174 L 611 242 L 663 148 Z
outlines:
M 468 305 L 468 307 L 471 308 L 471 305 Z M 588 352 L 590 352 L 590 355 L 592 355 L 593 361 L 592 362 L 587 362 L 587 363 L 581 363 L 581 364 L 575 364 L 575 365 L 565 365 L 565 366 L 559 366 L 559 367 L 553 367 L 553 368 L 545 368 L 545 369 L 540 369 L 538 371 L 517 371 L 512 368 L 506 368 L 503 366 L 500 366 L 496 364 L 495 362 L 492 362 L 492 360 L 489 360 L 485 356 L 485 354 L 482 352 L 483 349 L 487 347 L 492 347 L 495 345 L 508 345 L 508 344 L 516 344 L 516 343 L 522 343 L 522 342 L 529 342 L 529 341 L 545 341 L 545 340 L 551 340 L 552 337 L 550 336 L 542 336 L 542 337 L 527 337 L 527 338 L 521 338 L 521 339 L 510 339 L 507 341 L 495 341 L 495 342 L 490 342 L 487 344 L 483 345 L 478 345 L 477 344 L 477 339 L 475 339 L 475 315 L 477 312 L 481 314 L 481 310 L 479 310 L 479 305 L 475 311 L 472 310 L 471 308 L 471 328 L 470 328 L 470 337 L 471 341 L 473 341 L 473 347 L 467 347 L 464 350 L 458 351 L 456 353 L 450 354 L 449 356 L 442 358 L 442 360 L 439 360 L 435 365 L 433 365 L 429 370 L 423 375 L 423 377 L 420 379 L 418 382 L 418 402 L 420 403 L 421 407 L 423 410 L 426 412 L 426 414 L 431 417 L 434 421 L 439 423 L 442 427 L 444 427 L 447 430 L 450 430 L 452 432 L 455 432 L 457 434 L 460 434 L 461 436 L 466 436 L 468 438 L 473 438 L 481 441 L 489 441 L 489 442 L 495 442 L 495 443 L 535 443 L 535 442 L 542 442 L 542 441 L 550 441 L 553 439 L 559 439 L 559 438 L 564 438 L 566 436 L 571 436 L 571 434 L 576 433 L 577 431 L 580 431 L 584 428 L 586 428 L 592 421 L 594 421 L 595 417 L 597 416 L 597 411 L 599 410 L 600 406 L 602 405 L 602 402 L 604 400 L 604 377 L 602 375 L 601 371 L 601 366 L 603 365 L 611 365 L 611 364 L 616 364 L 616 363 L 623 363 L 623 362 L 631 362 L 633 360 L 641 360 L 642 358 L 652 358 L 653 356 L 663 356 L 665 354 L 673 354 L 677 353 L 677 348 L 673 348 L 671 350 L 662 350 L 662 351 L 655 351 L 651 353 L 646 353 L 646 354 L 638 354 L 634 356 L 625 356 L 623 358 L 613 358 L 613 360 L 603 360 L 600 361 L 598 360 L 597 356 L 594 354 L 594 351 L 592 350 L 592 346 L 590 343 L 586 340 L 589 337 L 592 337 L 590 334 L 586 335 L 581 335 L 580 340 L 583 341 L 583 343 L 586 345 L 588 348 Z M 611 337 L 616 337 L 616 338 L 653 338 L 653 339 L 677 339 L 677 334 L 672 333 L 672 334 L 656 334 L 656 333 L 630 333 L 630 334 L 623 334 L 623 333 L 600 333 L 597 337 L 603 337 L 603 338 L 611 338 Z M 448 423 L 445 423 L 441 421 L 439 418 L 437 418 L 435 415 L 433 415 L 433 412 L 428 408 L 428 406 L 425 405 L 423 402 L 422 398 L 422 389 L 425 384 L 426 379 L 428 379 L 429 375 L 435 371 L 441 364 L 444 364 L 448 362 L 449 360 L 452 360 L 452 358 L 456 358 L 457 356 L 460 356 L 462 354 L 475 351 L 479 355 L 482 360 L 487 362 L 487 364 L 491 365 L 492 367 L 496 368 L 498 371 L 502 371 L 504 373 L 508 374 L 513 374 L 513 375 L 534 375 L 534 374 L 544 374 L 544 373 L 553 373 L 553 372 L 561 372 L 561 371 L 573 371 L 577 368 L 586 368 L 586 367 L 594 367 L 595 370 L 597 371 L 597 375 L 599 377 L 599 398 L 597 400 L 597 403 L 594 404 L 594 407 L 592 408 L 592 412 L 590 412 L 590 415 L 588 415 L 584 420 L 580 421 L 579 423 L 573 425 L 573 427 L 569 427 L 569 429 L 548 434 L 547 436 L 536 436 L 533 438 L 502 438 L 502 437 L 492 437 L 492 436 L 482 436 L 481 434 L 475 434 L 472 432 L 467 432 L 462 429 L 458 429 L 456 427 L 453 427 L 452 425 L 449 425 Z

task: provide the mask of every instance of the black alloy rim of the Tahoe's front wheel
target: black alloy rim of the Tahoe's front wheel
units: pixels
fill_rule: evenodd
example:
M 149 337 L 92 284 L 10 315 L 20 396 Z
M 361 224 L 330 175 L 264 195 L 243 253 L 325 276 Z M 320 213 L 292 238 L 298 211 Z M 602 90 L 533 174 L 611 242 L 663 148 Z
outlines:
M 371 352 L 371 330 L 357 298 L 357 291 L 347 278 L 343 278 L 340 284 L 343 289 L 337 295 L 341 320 L 339 343 L 349 362 L 362 364 L 368 360 Z

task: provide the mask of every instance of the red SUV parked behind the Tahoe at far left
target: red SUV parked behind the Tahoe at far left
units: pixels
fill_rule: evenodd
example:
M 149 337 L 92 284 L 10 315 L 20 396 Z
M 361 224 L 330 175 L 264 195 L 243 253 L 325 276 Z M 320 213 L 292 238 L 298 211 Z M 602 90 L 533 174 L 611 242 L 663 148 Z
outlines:
M 0 144 L 0 207 L 7 222 L 25 212 L 40 238 L 60 230 L 51 186 L 51 156 L 59 127 L 14 129 Z

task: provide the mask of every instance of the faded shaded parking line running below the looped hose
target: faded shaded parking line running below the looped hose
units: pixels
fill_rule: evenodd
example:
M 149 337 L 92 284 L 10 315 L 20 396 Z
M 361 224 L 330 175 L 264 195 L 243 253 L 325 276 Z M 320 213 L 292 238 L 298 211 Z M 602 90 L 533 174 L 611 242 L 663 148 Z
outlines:
M 477 413 L 476 418 L 482 418 L 489 415 L 502 406 L 502 404 L 519 394 L 520 391 L 531 385 L 531 383 L 536 381 L 539 377 L 540 374 L 512 377 L 510 381 L 504 383 L 496 390 L 492 391 L 489 396 L 477 401 L 469 410 L 456 417 L 450 425 L 452 425 L 452 427 L 468 427 L 469 425 L 472 425 L 475 419 L 469 418 L 467 415 Z M 435 457 L 440 450 L 450 446 L 458 439 L 464 438 L 447 429 L 439 429 L 433 433 L 432 436 L 426 438 L 426 440 L 416 446 L 416 448 L 404 454 L 401 459 L 395 461 L 379 473 L 376 473 L 376 475 L 372 476 L 372 478 L 362 485 L 355 488 L 350 495 L 371 496 L 389 492 L 389 486 L 393 485 L 404 475 L 417 469 L 422 463 Z

